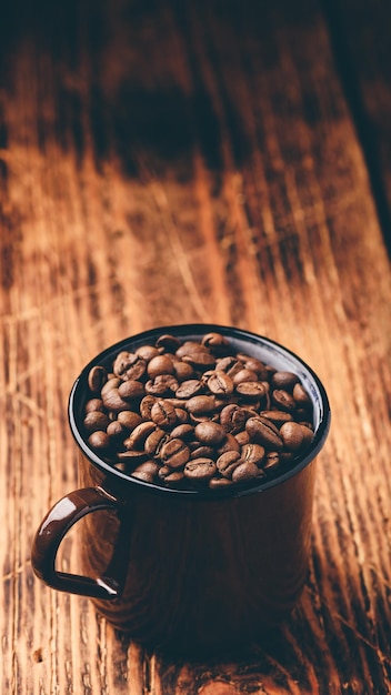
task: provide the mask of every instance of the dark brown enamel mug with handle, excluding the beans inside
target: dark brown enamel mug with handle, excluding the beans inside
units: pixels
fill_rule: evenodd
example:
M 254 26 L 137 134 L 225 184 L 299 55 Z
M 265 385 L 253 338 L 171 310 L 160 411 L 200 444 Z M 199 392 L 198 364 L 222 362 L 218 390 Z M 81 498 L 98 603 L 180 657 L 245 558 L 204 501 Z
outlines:
M 201 340 L 210 331 L 280 371 L 294 372 L 313 405 L 314 437 L 294 466 L 249 487 L 179 490 L 147 483 L 106 463 L 82 434 L 88 374 L 122 351 L 169 332 Z M 76 381 L 69 422 L 78 444 L 80 490 L 42 521 L 32 566 L 59 591 L 90 596 L 98 611 L 138 642 L 183 654 L 217 653 L 257 641 L 295 605 L 305 583 L 315 456 L 330 425 L 325 391 L 292 352 L 248 331 L 210 324 L 134 335 L 92 360 Z M 97 513 L 99 512 L 99 513 Z M 56 568 L 67 532 L 86 517 L 83 576 Z

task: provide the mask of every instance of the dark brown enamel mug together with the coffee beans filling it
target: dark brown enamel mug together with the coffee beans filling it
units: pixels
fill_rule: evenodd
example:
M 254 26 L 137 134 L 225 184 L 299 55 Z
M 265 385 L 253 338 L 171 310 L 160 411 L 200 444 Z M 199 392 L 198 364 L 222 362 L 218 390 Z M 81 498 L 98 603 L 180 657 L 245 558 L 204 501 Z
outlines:
M 176 655 L 243 648 L 289 616 L 330 424 L 324 387 L 299 356 L 229 326 L 154 329 L 94 357 L 68 415 L 79 488 L 36 534 L 38 577 Z M 84 574 L 59 572 L 58 548 L 82 517 Z

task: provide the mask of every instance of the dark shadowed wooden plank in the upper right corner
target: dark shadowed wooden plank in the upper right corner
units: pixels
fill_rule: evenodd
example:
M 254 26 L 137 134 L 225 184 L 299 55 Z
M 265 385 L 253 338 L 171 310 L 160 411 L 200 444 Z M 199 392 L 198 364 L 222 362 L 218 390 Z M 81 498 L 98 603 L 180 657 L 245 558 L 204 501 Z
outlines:
M 391 252 L 391 8 L 384 0 L 324 3 L 333 51 Z

